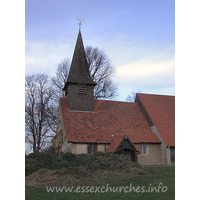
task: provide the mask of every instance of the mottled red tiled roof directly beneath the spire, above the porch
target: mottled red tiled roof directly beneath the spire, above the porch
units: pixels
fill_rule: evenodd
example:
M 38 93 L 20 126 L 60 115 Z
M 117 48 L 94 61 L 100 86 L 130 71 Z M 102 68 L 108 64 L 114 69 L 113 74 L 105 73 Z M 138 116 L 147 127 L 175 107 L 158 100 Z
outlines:
M 60 106 L 68 142 L 111 143 L 126 134 L 132 143 L 160 143 L 137 103 L 95 100 L 94 112 L 69 111 L 65 97 Z

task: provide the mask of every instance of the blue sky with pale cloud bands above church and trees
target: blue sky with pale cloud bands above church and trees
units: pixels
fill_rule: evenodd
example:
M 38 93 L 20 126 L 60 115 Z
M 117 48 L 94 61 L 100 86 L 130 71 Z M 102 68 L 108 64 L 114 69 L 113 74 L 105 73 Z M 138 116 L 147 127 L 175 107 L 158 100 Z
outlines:
M 116 67 L 116 100 L 131 91 L 175 95 L 174 0 L 26 0 L 25 74 L 53 74 L 72 59 L 76 16 L 84 45 L 104 50 Z

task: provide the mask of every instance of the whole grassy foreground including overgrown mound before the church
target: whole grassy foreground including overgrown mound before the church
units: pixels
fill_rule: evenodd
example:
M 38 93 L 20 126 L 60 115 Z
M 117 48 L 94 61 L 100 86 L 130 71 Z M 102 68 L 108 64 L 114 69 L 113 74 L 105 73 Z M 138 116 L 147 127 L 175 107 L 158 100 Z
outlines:
M 32 163 L 32 168 L 30 163 Z M 35 172 L 33 173 L 31 170 Z M 126 157 L 111 153 L 97 152 L 91 155 L 67 153 L 61 158 L 55 158 L 48 154 L 32 154 L 26 157 L 26 172 L 30 174 L 26 176 L 26 200 L 171 200 L 175 198 L 175 167 L 143 168 L 136 163 L 130 163 Z M 132 186 L 131 191 L 130 184 Z M 158 191 L 159 184 L 161 188 L 159 192 L 156 192 L 155 190 Z M 54 189 L 54 192 L 47 192 L 46 186 L 52 186 L 52 188 L 53 186 L 61 186 L 61 188 L 62 186 L 70 188 L 73 186 L 73 190 L 72 192 L 65 192 L 65 190 L 63 192 L 56 192 Z M 88 189 L 94 186 L 94 189 L 91 190 L 92 192 L 86 190 L 87 186 L 90 186 Z M 99 186 L 105 187 L 102 189 L 104 192 L 100 192 L 101 188 L 96 190 Z M 120 187 L 126 186 L 127 189 L 125 191 L 124 188 L 121 188 L 121 192 L 119 192 Z M 139 188 L 137 189 L 138 186 Z M 111 189 L 105 192 L 106 187 Z M 113 190 L 113 187 L 115 187 L 115 190 L 118 188 L 118 192 L 111 192 L 110 190 Z M 78 192 L 74 192 L 76 189 Z

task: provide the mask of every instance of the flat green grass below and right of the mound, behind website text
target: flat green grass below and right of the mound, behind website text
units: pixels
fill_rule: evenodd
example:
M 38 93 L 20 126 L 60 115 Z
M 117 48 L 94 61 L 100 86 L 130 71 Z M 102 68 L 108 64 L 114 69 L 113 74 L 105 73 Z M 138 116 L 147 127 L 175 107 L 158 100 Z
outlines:
M 26 186 L 25 187 L 25 197 L 26 200 L 64 200 L 64 199 L 148 199 L 148 200 L 156 200 L 156 199 L 162 199 L 162 200 L 172 200 L 175 199 L 175 167 L 148 167 L 148 174 L 145 175 L 138 175 L 138 176 L 131 176 L 130 174 L 122 174 L 117 175 L 113 174 L 112 172 L 109 172 L 106 176 L 104 174 L 99 175 L 97 185 L 98 186 L 105 186 L 106 184 L 109 184 L 108 186 L 115 186 L 118 187 L 118 192 L 96 192 L 96 193 L 76 193 L 76 192 L 47 192 L 45 187 L 32 187 L 32 186 Z M 129 176 L 130 175 L 130 176 Z M 85 186 L 89 185 L 87 183 L 87 179 L 83 179 Z M 160 189 L 160 192 L 149 192 L 152 187 L 158 188 L 158 185 L 162 183 L 163 190 L 166 190 L 166 192 L 162 192 L 162 189 Z M 143 190 L 140 188 L 137 192 L 127 192 L 125 193 L 124 190 L 119 192 L 120 186 L 130 186 L 132 184 L 132 187 L 135 186 L 145 186 Z M 83 184 L 82 184 L 83 185 Z M 71 185 L 68 185 L 71 186 Z M 94 185 L 95 186 L 95 185 Z M 75 189 L 78 189 L 77 186 L 74 186 L 73 191 Z M 91 188 L 90 188 L 91 189 Z M 106 189 L 106 188 L 105 188 Z M 103 189 L 103 191 L 105 191 Z M 115 188 L 116 189 L 116 188 Z M 86 188 L 85 188 L 86 190 Z M 79 189 L 78 191 L 82 191 L 82 189 Z M 95 188 L 93 192 L 95 191 Z M 127 191 L 127 189 L 125 190 Z M 143 192 L 141 192 L 143 191 Z

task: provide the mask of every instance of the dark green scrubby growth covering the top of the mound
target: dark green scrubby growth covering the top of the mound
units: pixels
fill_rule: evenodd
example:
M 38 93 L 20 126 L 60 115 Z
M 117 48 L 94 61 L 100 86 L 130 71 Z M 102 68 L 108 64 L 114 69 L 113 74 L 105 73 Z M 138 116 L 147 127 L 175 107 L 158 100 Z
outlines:
M 65 153 L 60 158 L 49 153 L 32 153 L 25 157 L 25 175 L 30 175 L 41 169 L 59 170 L 74 174 L 77 177 L 87 176 L 97 170 L 106 171 L 137 171 L 145 174 L 145 169 L 138 163 L 132 162 L 124 155 L 110 152 L 95 152 L 93 154 Z

